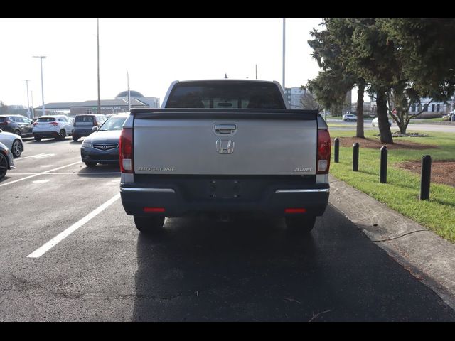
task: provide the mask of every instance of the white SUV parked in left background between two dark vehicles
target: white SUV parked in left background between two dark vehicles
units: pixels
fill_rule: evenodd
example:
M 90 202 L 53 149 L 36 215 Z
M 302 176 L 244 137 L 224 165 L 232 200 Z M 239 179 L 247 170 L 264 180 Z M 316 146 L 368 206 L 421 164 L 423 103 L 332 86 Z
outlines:
M 73 121 L 65 115 L 46 115 L 33 123 L 33 136 L 36 141 L 44 138 L 63 140 L 73 134 Z

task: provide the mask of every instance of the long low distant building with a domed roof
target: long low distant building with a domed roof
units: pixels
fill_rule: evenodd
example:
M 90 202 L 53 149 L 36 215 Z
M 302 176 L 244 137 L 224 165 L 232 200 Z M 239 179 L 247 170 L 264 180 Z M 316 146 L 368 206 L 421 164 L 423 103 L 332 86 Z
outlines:
M 140 92 L 130 90 L 130 104 L 132 108 L 159 108 L 159 98 L 144 97 Z M 115 99 L 102 99 L 101 114 L 114 114 L 117 112 L 128 112 L 130 104 L 128 103 L 128 91 L 117 94 Z M 42 106 L 34 108 L 35 117 L 43 115 Z M 85 102 L 60 102 L 45 104 L 46 115 L 64 114 L 69 117 L 75 117 L 81 114 L 97 114 L 98 101 L 90 100 Z

